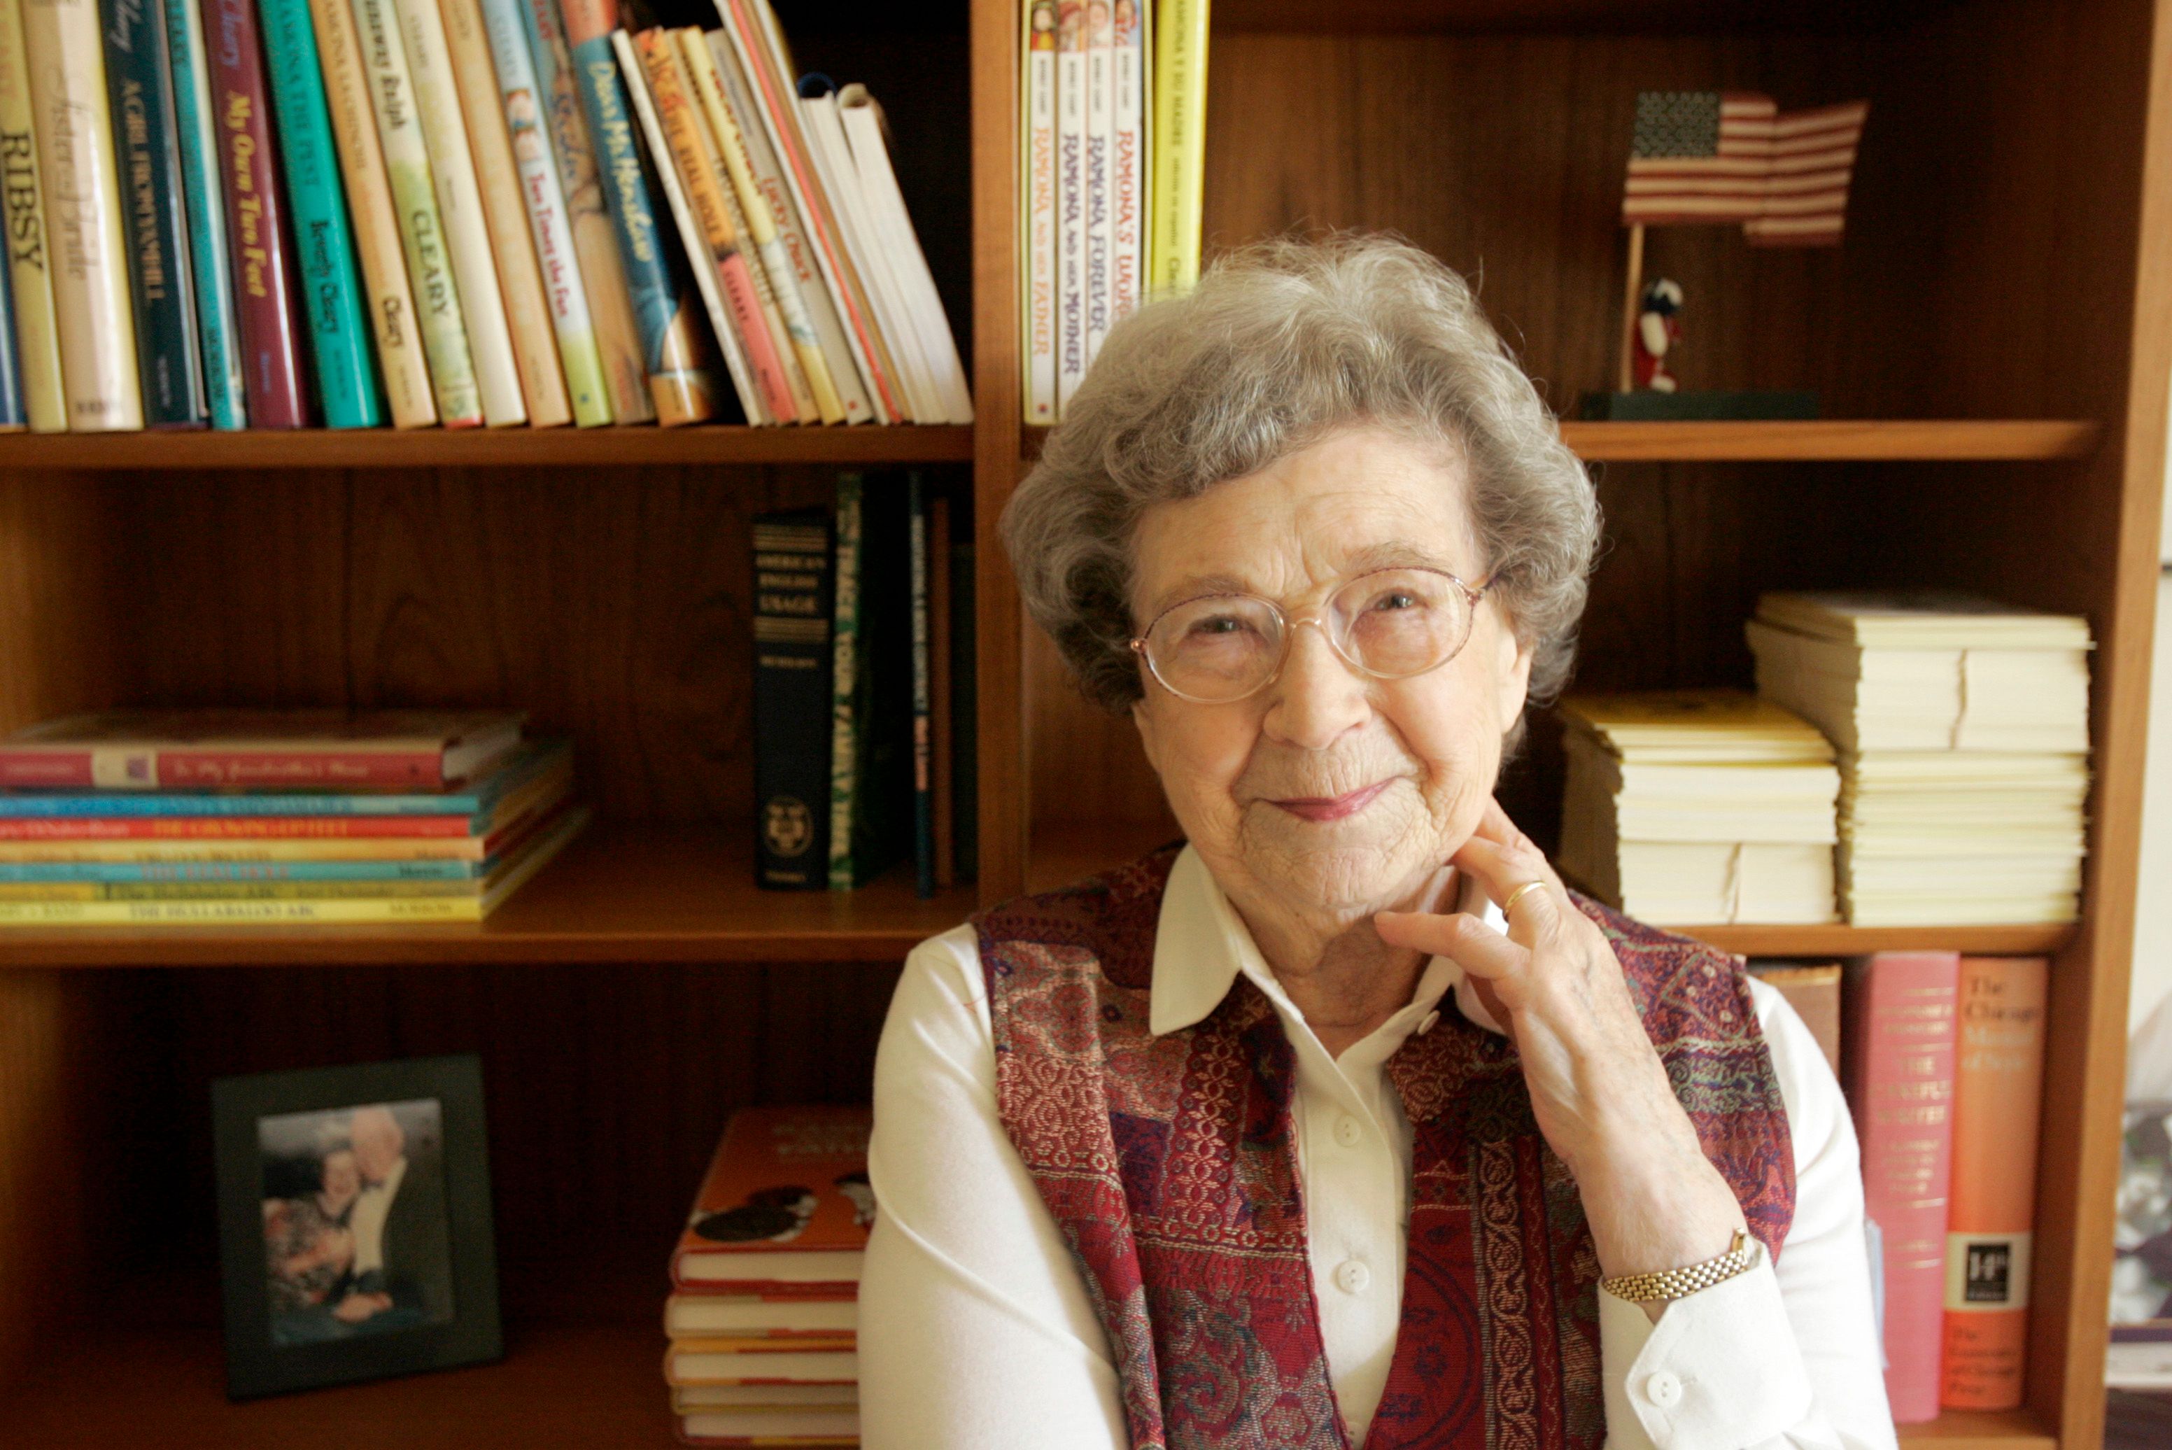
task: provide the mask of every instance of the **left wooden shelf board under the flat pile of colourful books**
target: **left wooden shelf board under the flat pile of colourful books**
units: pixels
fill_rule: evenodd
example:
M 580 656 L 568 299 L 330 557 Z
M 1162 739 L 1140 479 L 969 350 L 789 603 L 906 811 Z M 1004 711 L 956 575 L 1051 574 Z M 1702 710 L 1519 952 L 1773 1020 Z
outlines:
M 374 962 L 899 962 L 956 927 L 971 888 L 930 901 L 901 866 L 856 892 L 765 892 L 736 823 L 597 823 L 480 927 L 137 927 L 11 931 L 9 966 Z

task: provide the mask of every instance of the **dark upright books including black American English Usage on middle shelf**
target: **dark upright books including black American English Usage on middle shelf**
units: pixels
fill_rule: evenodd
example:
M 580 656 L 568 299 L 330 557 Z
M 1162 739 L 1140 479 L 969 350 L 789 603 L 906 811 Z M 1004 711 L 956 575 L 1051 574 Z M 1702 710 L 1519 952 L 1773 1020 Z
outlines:
M 754 521 L 756 881 L 975 875 L 973 545 L 917 471 Z

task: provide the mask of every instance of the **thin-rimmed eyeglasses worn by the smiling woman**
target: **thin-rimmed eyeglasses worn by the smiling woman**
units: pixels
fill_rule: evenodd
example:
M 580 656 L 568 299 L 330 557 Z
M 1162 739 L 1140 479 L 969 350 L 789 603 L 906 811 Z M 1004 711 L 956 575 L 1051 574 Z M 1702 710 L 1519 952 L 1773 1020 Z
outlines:
M 1162 610 L 1132 649 L 1164 690 L 1199 705 L 1227 705 L 1273 684 L 1299 625 L 1318 625 L 1360 673 L 1410 679 L 1455 658 L 1488 588 L 1440 569 L 1375 569 L 1344 580 L 1321 614 L 1303 619 L 1255 595 L 1201 595 Z

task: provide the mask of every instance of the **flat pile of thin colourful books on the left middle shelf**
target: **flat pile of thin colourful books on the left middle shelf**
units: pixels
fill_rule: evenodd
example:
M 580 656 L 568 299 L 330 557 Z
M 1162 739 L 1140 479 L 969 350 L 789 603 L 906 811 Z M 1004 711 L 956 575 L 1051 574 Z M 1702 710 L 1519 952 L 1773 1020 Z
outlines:
M 0 925 L 473 923 L 586 825 L 506 712 L 122 712 L 0 740 Z

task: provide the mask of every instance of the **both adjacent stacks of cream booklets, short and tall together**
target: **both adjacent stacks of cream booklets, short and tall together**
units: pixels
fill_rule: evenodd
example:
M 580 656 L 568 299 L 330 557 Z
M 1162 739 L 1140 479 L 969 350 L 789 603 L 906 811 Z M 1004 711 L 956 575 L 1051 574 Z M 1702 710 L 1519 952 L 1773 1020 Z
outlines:
M 1933 593 L 1766 595 L 1757 695 L 1562 705 L 1562 868 L 1664 923 L 2074 920 L 2087 623 Z

